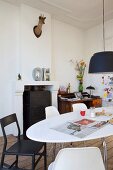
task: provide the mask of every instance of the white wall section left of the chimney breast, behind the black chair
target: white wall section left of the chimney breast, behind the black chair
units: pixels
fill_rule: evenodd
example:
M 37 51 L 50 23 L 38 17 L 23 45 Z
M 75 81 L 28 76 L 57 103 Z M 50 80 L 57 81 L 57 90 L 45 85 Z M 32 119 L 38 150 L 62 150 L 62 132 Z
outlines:
M 0 117 L 13 112 L 18 24 L 18 8 L 0 1 Z

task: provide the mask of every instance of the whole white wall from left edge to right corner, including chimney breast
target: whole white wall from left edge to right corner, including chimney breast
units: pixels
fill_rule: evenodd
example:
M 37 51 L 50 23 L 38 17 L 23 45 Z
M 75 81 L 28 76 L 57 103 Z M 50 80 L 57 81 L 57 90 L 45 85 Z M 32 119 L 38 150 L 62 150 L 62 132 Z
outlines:
M 46 20 L 41 37 L 36 38 L 33 27 L 40 14 Z M 65 86 L 71 83 L 71 91 L 77 90 L 77 73 L 69 60 L 84 58 L 83 41 L 81 30 L 51 19 L 48 13 L 0 0 L 0 118 L 16 112 L 22 126 L 22 108 L 16 107 L 22 100 L 15 96 L 16 85 L 21 86 L 21 82 L 16 84 L 18 73 L 23 82 L 32 82 L 35 67 L 50 67 L 51 80 Z

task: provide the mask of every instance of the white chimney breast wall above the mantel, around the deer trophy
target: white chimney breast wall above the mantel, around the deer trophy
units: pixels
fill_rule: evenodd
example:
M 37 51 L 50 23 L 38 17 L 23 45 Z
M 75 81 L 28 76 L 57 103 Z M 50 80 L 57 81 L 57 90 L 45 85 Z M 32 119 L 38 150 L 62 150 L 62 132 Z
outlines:
M 33 33 L 33 27 L 38 24 L 40 14 L 46 16 L 42 35 L 39 38 Z M 32 81 L 32 70 L 35 67 L 51 67 L 51 16 L 47 13 L 21 5 L 21 72 L 23 81 Z

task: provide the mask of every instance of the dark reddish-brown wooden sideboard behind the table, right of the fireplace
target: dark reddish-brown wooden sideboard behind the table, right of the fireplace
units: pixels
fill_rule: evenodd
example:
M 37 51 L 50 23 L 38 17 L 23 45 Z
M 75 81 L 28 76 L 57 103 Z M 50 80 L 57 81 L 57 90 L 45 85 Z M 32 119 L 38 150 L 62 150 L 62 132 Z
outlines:
M 83 98 L 78 100 L 74 100 L 74 97 L 74 93 L 58 95 L 58 110 L 61 114 L 73 111 L 72 105 L 75 103 L 85 103 L 88 108 L 102 106 L 102 99 L 99 97 Z

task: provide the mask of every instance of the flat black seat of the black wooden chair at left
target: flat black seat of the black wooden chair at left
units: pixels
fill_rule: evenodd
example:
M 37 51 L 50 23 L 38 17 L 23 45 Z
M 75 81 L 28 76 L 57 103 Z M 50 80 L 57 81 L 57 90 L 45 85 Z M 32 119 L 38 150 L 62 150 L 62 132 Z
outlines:
M 34 155 L 37 154 L 40 149 L 44 146 L 42 142 L 35 142 L 32 140 L 20 140 L 20 142 L 16 142 L 9 149 L 7 149 L 6 154 L 14 154 L 17 155 Z M 38 153 L 39 154 L 39 153 Z

